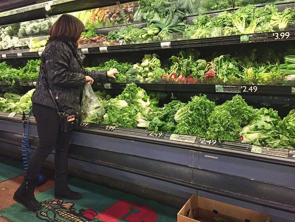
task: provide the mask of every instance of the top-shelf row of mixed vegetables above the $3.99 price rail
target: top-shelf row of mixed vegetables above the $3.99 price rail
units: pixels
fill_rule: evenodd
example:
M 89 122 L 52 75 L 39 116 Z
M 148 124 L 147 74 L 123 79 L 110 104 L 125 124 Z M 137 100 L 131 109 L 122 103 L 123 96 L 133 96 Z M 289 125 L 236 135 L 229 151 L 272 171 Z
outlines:
M 187 22 L 186 15 L 190 12 L 182 7 L 176 9 L 175 5 L 179 2 L 140 0 L 71 14 L 79 18 L 88 29 L 80 41 L 81 44 L 87 44 L 83 46 L 87 48 L 288 31 L 295 28 L 293 25 L 295 11 L 294 8 L 289 7 L 290 5 L 286 5 L 286 8 L 283 7 L 283 11 L 279 12 L 276 5 L 255 7 L 249 4 L 233 11 L 222 11 L 219 14 L 199 14 Z M 56 15 L 46 19 L 10 24 L 1 28 L 1 37 L 17 35 L 18 38 L 24 38 L 48 35 L 51 25 L 58 17 L 59 15 Z M 136 24 L 126 26 L 143 21 L 146 22 L 144 26 Z M 109 30 L 108 36 L 99 34 L 99 28 L 108 27 L 118 29 Z M 107 33 L 104 32 L 104 34 Z M 284 36 L 286 40 L 290 37 L 290 33 Z M 22 43 L 20 44 L 16 37 L 13 39 L 5 37 L 3 44 L 0 45 L 5 49 L 23 46 L 26 41 L 20 40 Z

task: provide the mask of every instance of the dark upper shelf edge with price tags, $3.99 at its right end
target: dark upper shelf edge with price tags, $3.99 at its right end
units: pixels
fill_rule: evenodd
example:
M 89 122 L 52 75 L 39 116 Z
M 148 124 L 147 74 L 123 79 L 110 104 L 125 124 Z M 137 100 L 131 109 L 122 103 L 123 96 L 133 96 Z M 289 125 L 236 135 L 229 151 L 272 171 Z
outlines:
M 284 35 L 282 35 L 284 37 L 281 36 L 281 33 L 284 33 Z M 289 34 L 286 35 L 286 33 L 289 33 Z M 82 48 L 79 50 L 81 50 L 82 53 L 84 54 L 97 54 L 97 53 L 160 50 L 160 49 L 169 49 L 169 48 L 173 49 L 173 48 L 206 47 L 206 46 L 228 45 L 228 44 L 246 44 L 246 43 L 254 43 L 254 42 L 290 41 L 294 39 L 295 39 L 295 30 L 290 30 L 290 31 L 268 32 L 268 33 L 256 33 L 256 34 L 248 34 L 248 35 L 222 36 L 222 37 L 215 37 L 215 38 L 201 38 L 201 39 L 189 39 L 189 40 L 178 40 L 178 41 L 150 42 L 150 43 L 142 43 L 142 44 L 88 47 L 88 48 Z M 16 59 L 16 58 L 29 58 L 29 57 L 40 57 L 40 56 L 41 56 L 41 52 L 28 52 L 28 49 L 0 51 L 1 59 Z

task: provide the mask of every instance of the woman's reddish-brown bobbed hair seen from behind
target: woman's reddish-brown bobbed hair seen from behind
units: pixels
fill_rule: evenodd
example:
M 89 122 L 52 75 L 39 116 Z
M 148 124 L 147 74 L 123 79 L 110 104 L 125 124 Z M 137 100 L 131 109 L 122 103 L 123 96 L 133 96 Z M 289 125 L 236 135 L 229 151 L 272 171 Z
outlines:
M 74 45 L 85 31 L 84 24 L 75 16 L 63 14 L 51 27 L 49 41 L 61 39 L 68 40 Z

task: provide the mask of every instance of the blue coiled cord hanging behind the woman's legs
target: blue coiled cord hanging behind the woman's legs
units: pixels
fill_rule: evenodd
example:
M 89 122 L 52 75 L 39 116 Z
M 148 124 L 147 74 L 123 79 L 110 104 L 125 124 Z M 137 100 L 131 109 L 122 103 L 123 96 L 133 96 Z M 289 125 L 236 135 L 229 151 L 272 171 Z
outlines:
M 30 143 L 29 143 L 29 135 L 30 135 L 30 115 L 31 115 L 32 109 L 29 111 L 29 115 L 28 115 L 28 134 L 25 134 L 25 114 L 22 113 L 22 123 L 23 123 L 23 133 L 22 133 L 22 140 L 21 140 L 21 155 L 22 155 L 22 160 L 23 160 L 23 168 L 24 171 L 27 172 L 28 166 L 29 166 L 29 162 L 30 162 L 30 158 L 32 156 L 32 154 L 34 153 L 33 150 L 31 150 L 30 148 Z M 41 184 L 44 184 L 46 182 L 46 177 L 42 174 L 39 173 L 38 174 L 38 182 L 37 182 L 37 186 L 40 186 Z

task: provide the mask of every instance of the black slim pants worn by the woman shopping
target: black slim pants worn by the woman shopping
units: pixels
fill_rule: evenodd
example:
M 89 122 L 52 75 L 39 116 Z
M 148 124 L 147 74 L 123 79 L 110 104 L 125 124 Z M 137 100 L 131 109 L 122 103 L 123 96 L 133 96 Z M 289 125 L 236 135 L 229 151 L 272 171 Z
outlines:
M 33 113 L 37 122 L 39 144 L 29 161 L 26 177 L 37 178 L 46 158 L 55 149 L 55 187 L 66 187 L 71 132 L 60 130 L 59 116 L 55 109 L 33 103 Z

